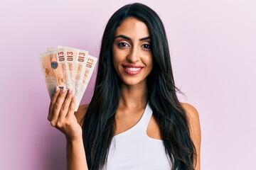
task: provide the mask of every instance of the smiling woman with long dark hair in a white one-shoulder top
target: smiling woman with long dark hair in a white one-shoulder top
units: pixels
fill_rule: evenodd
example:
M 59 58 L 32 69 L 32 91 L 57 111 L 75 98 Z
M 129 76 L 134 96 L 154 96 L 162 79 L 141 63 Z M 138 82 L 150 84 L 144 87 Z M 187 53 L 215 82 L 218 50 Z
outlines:
M 105 28 L 90 104 L 74 113 L 72 90 L 58 87 L 51 99 L 68 169 L 200 169 L 198 113 L 176 91 L 161 19 L 143 4 L 123 6 Z

